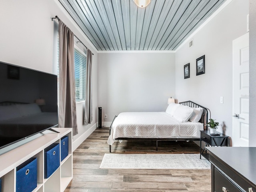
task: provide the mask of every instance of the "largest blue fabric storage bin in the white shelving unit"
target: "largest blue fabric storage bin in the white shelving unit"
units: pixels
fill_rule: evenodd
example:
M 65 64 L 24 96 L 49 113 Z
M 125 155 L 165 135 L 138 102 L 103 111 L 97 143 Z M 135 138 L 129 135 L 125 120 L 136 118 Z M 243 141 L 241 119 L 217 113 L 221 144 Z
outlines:
M 37 186 L 37 158 L 30 158 L 16 168 L 16 192 L 31 192 Z

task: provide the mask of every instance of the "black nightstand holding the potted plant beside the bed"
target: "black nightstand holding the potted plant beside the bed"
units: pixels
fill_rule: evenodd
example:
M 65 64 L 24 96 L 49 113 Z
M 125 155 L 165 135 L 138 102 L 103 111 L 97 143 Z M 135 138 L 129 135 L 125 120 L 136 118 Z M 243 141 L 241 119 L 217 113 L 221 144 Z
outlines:
M 201 155 L 209 160 L 208 151 L 203 148 L 202 149 L 202 141 L 205 142 L 204 147 L 208 146 L 228 146 L 228 136 L 222 133 L 216 132 L 220 135 L 210 135 L 210 131 L 200 131 L 200 159 Z

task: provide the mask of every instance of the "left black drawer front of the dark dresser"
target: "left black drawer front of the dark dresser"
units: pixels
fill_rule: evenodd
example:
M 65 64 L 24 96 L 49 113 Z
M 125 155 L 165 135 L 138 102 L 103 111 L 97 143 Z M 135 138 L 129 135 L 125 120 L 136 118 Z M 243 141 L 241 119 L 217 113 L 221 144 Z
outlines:
M 239 190 L 226 176 L 214 168 L 214 192 L 243 192 Z

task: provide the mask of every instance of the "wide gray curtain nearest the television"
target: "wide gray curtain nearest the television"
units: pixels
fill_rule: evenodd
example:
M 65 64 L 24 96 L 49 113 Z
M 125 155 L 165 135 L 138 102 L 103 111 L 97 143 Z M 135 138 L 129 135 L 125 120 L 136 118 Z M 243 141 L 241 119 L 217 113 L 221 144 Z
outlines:
M 59 127 L 73 128 L 78 134 L 76 122 L 74 34 L 59 20 Z

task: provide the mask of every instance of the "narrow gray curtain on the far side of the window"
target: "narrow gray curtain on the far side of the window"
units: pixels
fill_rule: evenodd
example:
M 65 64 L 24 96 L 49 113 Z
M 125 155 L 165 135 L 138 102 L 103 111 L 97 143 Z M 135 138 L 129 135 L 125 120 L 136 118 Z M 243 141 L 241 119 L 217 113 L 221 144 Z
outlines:
M 86 52 L 86 96 L 84 124 L 92 122 L 92 52 L 87 49 Z

